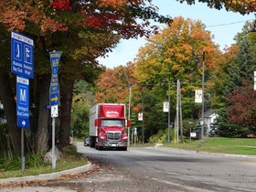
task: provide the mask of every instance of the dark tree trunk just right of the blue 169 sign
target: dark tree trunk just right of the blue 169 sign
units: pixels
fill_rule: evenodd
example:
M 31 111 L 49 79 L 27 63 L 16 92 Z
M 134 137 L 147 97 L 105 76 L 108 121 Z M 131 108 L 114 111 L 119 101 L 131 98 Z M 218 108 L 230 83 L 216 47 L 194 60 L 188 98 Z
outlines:
M 60 146 L 69 145 L 70 133 L 70 115 L 73 98 L 73 80 L 62 80 L 65 85 L 62 86 L 61 91 L 61 108 L 60 108 L 60 127 L 59 127 L 59 144 Z

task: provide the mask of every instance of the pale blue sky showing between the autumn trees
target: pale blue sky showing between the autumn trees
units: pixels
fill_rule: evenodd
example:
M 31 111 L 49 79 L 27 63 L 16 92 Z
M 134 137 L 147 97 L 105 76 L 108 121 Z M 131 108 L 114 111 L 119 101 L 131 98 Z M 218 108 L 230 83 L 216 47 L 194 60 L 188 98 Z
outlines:
M 212 35 L 213 41 L 219 44 L 220 49 L 226 45 L 230 46 L 234 43 L 233 38 L 241 31 L 241 28 L 247 20 L 254 20 L 254 16 L 241 16 L 238 13 L 227 12 L 225 9 L 210 9 L 206 4 L 197 3 L 197 5 L 180 4 L 176 0 L 153 0 L 153 5 L 159 7 L 161 15 L 169 15 L 172 17 L 183 16 L 194 20 L 201 20 Z M 223 24 L 223 25 L 222 25 Z M 213 27 L 212 27 L 213 26 Z M 215 27 L 214 27 L 215 26 Z M 133 61 L 138 49 L 144 46 L 144 37 L 138 39 L 122 40 L 112 53 L 108 54 L 108 58 L 101 58 L 99 62 L 107 68 L 114 68 L 125 65 L 128 61 Z

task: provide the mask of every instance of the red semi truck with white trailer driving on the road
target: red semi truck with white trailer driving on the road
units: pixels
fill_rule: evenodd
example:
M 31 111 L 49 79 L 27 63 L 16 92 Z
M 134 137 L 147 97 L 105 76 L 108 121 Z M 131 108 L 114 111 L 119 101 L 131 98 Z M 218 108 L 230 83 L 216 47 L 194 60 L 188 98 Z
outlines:
M 124 104 L 95 104 L 90 110 L 90 146 L 98 150 L 112 147 L 126 151 L 125 122 Z

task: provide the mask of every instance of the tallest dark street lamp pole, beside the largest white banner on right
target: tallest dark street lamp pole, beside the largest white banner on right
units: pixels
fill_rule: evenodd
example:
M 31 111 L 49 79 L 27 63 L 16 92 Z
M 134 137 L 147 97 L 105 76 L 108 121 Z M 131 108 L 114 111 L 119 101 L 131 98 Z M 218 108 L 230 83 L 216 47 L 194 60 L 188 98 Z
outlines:
M 203 75 L 202 75 L 202 121 L 203 123 L 201 123 L 202 125 L 202 128 L 201 128 L 201 142 L 200 144 L 203 145 L 205 144 L 204 142 L 204 125 L 205 125 L 205 121 L 204 121 L 204 111 L 205 111 L 205 96 L 204 96 L 204 90 L 205 90 L 205 56 L 206 56 L 206 52 L 203 51 L 203 66 L 202 66 L 202 72 L 203 72 Z M 195 59 L 195 62 L 198 62 L 199 59 L 196 58 Z

